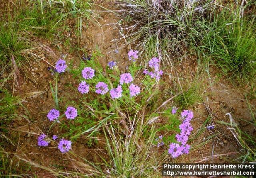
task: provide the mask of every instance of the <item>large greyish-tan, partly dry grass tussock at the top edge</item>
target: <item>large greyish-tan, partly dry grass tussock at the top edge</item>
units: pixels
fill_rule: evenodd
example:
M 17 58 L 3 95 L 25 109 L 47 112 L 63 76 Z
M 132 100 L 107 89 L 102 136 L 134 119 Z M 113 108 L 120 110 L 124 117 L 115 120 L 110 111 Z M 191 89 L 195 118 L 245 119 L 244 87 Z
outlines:
M 121 20 L 120 26 L 130 42 L 139 42 L 150 57 L 161 52 L 165 64 L 170 54 L 183 54 L 200 43 L 216 8 L 211 0 L 117 0 L 117 6 L 120 17 L 128 20 L 129 25 Z

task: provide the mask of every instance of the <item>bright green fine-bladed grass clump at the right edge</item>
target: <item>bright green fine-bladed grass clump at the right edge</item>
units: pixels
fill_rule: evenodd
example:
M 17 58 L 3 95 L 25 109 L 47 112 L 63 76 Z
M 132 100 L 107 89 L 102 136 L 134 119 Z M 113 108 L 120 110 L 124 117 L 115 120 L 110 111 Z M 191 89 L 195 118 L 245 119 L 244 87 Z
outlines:
M 240 10 L 217 14 L 212 31 L 206 36 L 210 59 L 222 74 L 239 84 L 249 83 L 256 75 L 255 18 L 242 16 Z

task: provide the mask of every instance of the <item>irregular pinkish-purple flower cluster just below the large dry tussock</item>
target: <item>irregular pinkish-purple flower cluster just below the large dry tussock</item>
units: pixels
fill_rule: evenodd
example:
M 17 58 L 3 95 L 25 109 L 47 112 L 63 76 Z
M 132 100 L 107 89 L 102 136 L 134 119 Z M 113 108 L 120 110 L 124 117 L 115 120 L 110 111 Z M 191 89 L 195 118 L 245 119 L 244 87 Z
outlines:
M 143 73 L 145 75 L 149 75 L 152 79 L 155 78 L 156 80 L 160 79 L 160 76 L 163 75 L 163 71 L 159 70 L 159 62 L 160 59 L 157 57 L 153 57 L 150 61 L 148 61 L 148 65 L 153 71 L 144 70 Z

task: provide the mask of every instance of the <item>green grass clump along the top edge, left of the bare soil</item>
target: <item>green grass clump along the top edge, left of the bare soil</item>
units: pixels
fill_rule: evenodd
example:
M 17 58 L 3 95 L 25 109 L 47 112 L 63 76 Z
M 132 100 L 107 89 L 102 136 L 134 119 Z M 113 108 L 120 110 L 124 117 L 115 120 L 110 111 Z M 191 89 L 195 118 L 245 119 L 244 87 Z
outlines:
M 78 19 L 82 25 L 82 19 L 89 18 L 91 14 L 91 4 L 87 0 L 31 1 L 30 4 L 31 7 L 21 9 L 18 24 L 23 30 L 40 37 L 51 38 L 71 18 Z

